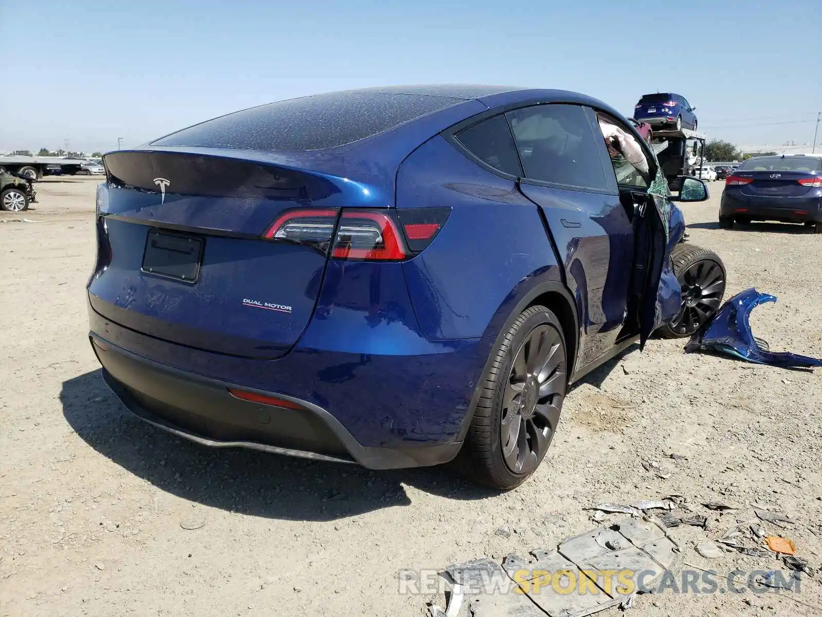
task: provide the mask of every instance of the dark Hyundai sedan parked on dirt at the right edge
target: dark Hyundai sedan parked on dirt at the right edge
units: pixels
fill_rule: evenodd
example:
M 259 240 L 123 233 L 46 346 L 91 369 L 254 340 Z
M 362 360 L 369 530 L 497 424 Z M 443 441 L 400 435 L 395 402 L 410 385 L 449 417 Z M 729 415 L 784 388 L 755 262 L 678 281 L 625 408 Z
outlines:
M 822 155 L 755 156 L 725 179 L 719 226 L 777 220 L 822 234 Z

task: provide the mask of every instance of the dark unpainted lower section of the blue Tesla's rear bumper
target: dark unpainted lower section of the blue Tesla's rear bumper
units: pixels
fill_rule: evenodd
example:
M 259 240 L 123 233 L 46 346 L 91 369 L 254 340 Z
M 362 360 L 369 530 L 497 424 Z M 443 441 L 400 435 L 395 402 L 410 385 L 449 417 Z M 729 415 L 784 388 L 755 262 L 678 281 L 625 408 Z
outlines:
M 177 369 L 133 354 L 91 333 L 103 378 L 132 414 L 170 433 L 216 448 L 251 448 L 370 469 L 432 466 L 454 458 L 462 442 L 363 446 L 334 415 L 311 401 Z M 277 397 L 298 409 L 233 397 L 229 388 Z

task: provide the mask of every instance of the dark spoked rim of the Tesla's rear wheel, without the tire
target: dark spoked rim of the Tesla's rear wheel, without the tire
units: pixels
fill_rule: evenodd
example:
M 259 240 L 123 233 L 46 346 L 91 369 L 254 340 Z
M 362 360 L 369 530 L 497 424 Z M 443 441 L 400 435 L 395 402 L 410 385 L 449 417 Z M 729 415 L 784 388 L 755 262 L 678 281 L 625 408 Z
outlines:
M 543 460 L 566 394 L 566 350 L 556 328 L 530 332 L 511 364 L 502 396 L 500 442 L 506 466 L 528 474 Z

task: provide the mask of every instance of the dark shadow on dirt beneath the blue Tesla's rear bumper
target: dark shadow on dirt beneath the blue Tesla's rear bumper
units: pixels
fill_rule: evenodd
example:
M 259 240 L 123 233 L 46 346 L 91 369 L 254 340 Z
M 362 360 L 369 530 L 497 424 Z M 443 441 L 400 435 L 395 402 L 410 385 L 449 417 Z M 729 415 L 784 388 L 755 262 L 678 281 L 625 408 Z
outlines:
M 499 494 L 469 484 L 447 466 L 369 471 L 242 448 L 206 448 L 136 419 L 99 370 L 63 382 L 60 401 L 72 429 L 104 457 L 170 494 L 231 512 L 329 521 L 410 505 L 404 485 L 448 499 Z

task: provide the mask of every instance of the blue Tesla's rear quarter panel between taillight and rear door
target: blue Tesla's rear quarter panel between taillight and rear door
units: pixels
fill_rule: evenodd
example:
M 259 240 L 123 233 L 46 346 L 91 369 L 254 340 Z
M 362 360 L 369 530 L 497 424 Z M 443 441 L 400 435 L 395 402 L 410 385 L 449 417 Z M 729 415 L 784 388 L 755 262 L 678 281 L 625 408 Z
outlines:
M 428 339 L 496 336 L 520 298 L 561 281 L 538 207 L 444 137 L 433 137 L 400 166 L 396 204 L 452 209 L 432 244 L 403 264 Z

